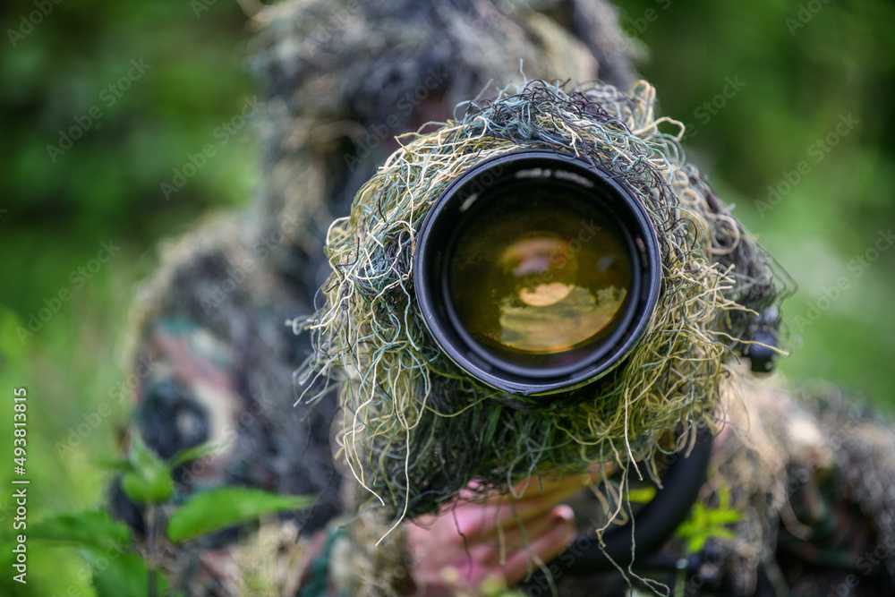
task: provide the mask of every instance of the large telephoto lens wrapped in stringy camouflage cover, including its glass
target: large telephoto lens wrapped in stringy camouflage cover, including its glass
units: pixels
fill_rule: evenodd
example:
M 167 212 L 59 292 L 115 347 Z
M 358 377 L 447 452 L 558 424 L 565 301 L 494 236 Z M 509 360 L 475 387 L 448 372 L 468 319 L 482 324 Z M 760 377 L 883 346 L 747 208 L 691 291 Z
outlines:
M 484 498 L 607 460 L 625 487 L 645 465 L 667 489 L 637 528 L 686 516 L 728 363 L 774 331 L 755 316 L 787 286 L 654 102 L 645 82 L 532 81 L 461 107 L 402 137 L 329 227 L 296 379 L 344 383 L 346 457 L 392 524 L 473 480 Z M 603 498 L 620 512 L 624 495 Z

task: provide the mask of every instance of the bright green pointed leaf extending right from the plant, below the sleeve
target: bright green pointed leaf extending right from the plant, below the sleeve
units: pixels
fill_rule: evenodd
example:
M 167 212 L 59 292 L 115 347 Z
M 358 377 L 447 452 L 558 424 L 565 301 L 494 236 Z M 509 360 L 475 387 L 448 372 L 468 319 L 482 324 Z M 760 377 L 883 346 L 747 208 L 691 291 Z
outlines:
M 314 499 L 285 496 L 243 487 L 225 487 L 197 493 L 177 508 L 167 525 L 167 538 L 181 543 L 226 526 L 266 514 L 310 507 Z

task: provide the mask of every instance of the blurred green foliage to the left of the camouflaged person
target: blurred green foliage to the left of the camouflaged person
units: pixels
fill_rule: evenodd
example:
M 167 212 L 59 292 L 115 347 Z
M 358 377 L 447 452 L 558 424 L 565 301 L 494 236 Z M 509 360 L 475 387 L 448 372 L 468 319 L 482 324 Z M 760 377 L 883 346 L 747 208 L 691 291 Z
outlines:
M 247 18 L 232 2 L 197 6 L 198 15 L 183 0 L 0 8 L 0 392 L 11 405 L 13 388 L 28 389 L 29 524 L 103 501 L 96 460 L 115 455 L 128 415 L 127 305 L 155 243 L 251 197 L 252 126 L 215 136 L 256 93 Z M 166 199 L 161 183 L 209 143 L 215 155 Z M 100 243 L 120 249 L 107 258 Z M 0 425 L 8 437 L 11 406 Z M 0 482 L 12 487 L 11 441 L 0 457 Z M 4 531 L 11 496 L 0 493 Z M 10 556 L 0 554 L 4 571 Z M 91 568 L 73 550 L 29 542 L 28 563 L 29 583 L 4 572 L 0 594 L 92 594 Z

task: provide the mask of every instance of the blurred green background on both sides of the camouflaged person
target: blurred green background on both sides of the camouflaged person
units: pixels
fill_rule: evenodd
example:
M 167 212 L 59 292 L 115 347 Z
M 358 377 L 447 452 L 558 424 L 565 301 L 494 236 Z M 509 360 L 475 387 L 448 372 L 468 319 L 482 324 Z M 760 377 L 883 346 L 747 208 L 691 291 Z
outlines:
M 251 124 L 233 119 L 258 90 L 246 66 L 255 8 L 0 8 L 0 483 L 12 488 L 13 388 L 24 387 L 31 521 L 102 502 L 98 462 L 115 455 L 128 419 L 118 399 L 127 306 L 158 244 L 251 202 L 260 148 Z M 662 113 L 687 124 L 688 158 L 798 282 L 784 311 L 792 355 L 779 370 L 843 384 L 891 413 L 895 5 L 620 8 Z M 166 197 L 162 184 L 209 143 L 215 155 Z M 120 247 L 105 262 L 102 243 Z M 11 494 L 0 490 L 0 537 Z M 0 593 L 91 594 L 74 550 L 31 544 L 24 592 L 8 551 Z

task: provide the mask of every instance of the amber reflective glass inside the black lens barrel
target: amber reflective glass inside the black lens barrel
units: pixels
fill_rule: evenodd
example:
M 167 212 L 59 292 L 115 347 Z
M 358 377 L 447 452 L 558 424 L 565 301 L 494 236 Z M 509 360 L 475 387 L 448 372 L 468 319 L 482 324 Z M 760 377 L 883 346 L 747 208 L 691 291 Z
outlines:
M 467 218 L 450 258 L 450 292 L 466 332 L 525 364 L 537 363 L 514 355 L 563 353 L 608 336 L 632 276 L 615 219 L 580 193 L 555 188 L 487 203 Z

